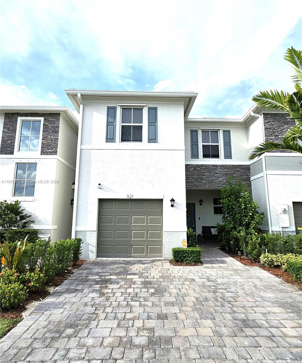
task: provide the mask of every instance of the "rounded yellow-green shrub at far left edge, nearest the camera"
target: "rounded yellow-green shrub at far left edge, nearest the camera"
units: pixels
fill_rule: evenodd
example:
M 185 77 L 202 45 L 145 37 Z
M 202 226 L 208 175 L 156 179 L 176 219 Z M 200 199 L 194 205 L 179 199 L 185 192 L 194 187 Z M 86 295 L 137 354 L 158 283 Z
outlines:
M 17 276 L 13 271 L 5 270 L 0 275 L 1 309 L 9 310 L 18 307 L 27 297 L 26 287 L 17 282 Z

